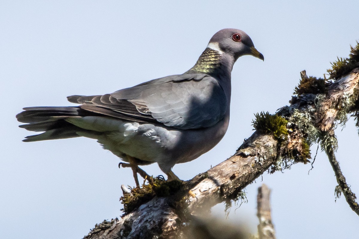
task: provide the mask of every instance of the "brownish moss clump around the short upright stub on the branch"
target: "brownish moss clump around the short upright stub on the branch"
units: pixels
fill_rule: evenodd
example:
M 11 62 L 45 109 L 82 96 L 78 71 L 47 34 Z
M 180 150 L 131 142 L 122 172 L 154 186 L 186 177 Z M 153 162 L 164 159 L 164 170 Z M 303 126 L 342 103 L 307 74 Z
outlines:
M 326 94 L 327 83 L 323 78 L 316 78 L 313 76 L 302 77 L 297 87 L 294 89 L 294 94 Z

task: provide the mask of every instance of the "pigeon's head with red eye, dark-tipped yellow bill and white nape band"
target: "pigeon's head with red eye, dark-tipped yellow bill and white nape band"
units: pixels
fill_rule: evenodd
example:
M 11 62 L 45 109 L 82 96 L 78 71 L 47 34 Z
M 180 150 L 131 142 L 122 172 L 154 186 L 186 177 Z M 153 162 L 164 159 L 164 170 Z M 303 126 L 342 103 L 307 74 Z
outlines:
M 251 38 L 238 29 L 220 30 L 211 38 L 207 47 L 233 56 L 234 61 L 243 55 L 252 55 L 264 60 L 264 56 L 255 49 Z

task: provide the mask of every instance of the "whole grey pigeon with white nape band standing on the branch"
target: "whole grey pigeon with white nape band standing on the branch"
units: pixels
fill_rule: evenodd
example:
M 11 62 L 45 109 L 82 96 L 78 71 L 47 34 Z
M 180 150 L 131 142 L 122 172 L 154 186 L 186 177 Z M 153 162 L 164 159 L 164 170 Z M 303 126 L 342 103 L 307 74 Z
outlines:
M 264 60 L 251 38 L 238 29 L 222 29 L 210 39 L 196 64 L 180 75 L 154 79 L 106 95 L 67 97 L 79 106 L 26 107 L 19 127 L 43 132 L 24 142 L 87 137 L 149 178 L 139 166 L 157 162 L 168 180 L 172 167 L 208 152 L 229 123 L 231 72 L 243 55 Z

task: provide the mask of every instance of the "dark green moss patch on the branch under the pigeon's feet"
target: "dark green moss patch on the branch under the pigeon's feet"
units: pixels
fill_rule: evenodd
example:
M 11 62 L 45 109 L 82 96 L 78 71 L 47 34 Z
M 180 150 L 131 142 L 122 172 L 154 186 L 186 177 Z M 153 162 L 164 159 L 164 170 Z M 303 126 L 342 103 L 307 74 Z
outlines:
M 131 193 L 123 194 L 120 200 L 123 204 L 123 211 L 125 213 L 133 211 L 142 204 L 150 201 L 155 196 L 167 197 L 173 195 L 180 190 L 182 186 L 181 181 L 167 181 L 163 178 L 163 176 L 157 176 L 152 179 L 153 183 L 144 183 L 141 188 L 131 188 Z

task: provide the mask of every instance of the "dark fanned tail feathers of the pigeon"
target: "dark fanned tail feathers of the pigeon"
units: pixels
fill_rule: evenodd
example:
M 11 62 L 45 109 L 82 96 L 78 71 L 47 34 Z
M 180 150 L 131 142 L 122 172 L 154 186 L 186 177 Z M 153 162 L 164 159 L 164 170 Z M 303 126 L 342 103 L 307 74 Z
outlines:
M 35 132 L 45 132 L 37 135 L 25 137 L 24 142 L 42 141 L 49 139 L 65 139 L 80 137 L 76 132 L 87 131 L 76 127 L 65 121 L 70 117 L 81 117 L 89 115 L 98 115 L 96 113 L 83 110 L 80 107 L 27 107 L 24 111 L 16 115 L 18 121 L 27 123 L 20 125 Z

